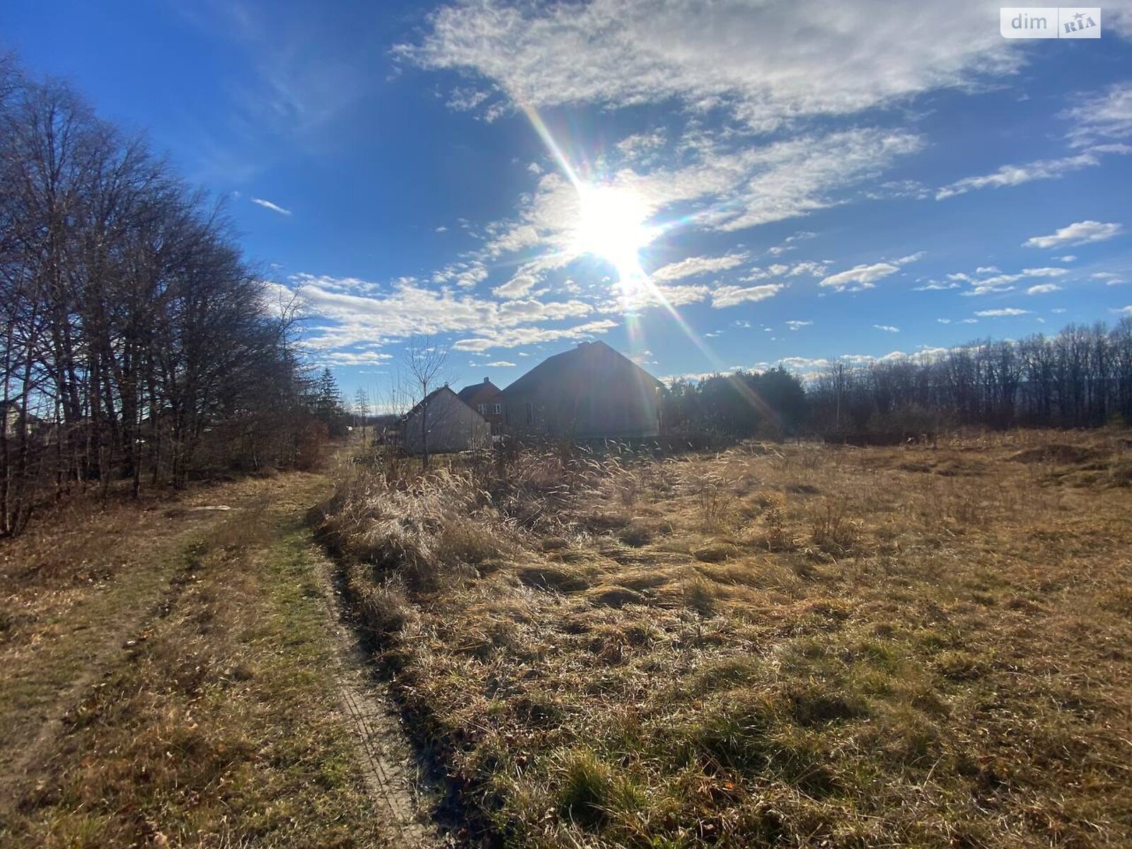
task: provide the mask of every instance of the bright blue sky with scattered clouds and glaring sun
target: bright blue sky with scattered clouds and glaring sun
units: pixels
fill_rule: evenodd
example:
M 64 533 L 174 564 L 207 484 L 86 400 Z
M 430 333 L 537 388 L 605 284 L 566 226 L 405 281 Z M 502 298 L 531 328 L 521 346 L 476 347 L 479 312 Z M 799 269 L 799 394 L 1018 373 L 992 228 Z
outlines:
M 8 3 L 0 45 L 225 197 L 343 388 L 405 338 L 505 386 L 603 338 L 660 377 L 1132 314 L 1132 3 Z

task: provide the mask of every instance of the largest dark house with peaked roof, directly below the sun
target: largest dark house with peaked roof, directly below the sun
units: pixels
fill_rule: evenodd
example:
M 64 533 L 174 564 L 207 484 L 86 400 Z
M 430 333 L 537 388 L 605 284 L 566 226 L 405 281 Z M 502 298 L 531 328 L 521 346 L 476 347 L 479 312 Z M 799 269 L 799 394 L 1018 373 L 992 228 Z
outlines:
M 503 391 L 504 426 L 521 437 L 654 437 L 662 389 L 660 380 L 604 342 L 582 342 Z

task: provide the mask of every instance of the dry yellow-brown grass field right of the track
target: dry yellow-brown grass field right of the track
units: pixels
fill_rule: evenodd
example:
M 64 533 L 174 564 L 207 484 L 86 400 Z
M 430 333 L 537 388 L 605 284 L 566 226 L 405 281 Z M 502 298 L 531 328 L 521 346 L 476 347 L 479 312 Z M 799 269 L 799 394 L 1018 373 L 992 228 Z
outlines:
M 1130 846 L 1130 446 L 358 466 L 323 530 L 506 844 Z

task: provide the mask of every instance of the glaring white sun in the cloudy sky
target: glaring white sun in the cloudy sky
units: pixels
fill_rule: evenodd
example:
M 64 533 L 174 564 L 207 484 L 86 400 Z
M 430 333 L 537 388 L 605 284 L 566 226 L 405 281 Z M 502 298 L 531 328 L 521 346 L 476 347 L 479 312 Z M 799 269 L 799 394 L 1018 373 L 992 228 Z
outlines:
M 631 189 L 612 186 L 583 187 L 578 195 L 581 214 L 575 250 L 612 265 L 623 286 L 644 277 L 641 250 L 655 235 L 645 225 L 649 207 Z

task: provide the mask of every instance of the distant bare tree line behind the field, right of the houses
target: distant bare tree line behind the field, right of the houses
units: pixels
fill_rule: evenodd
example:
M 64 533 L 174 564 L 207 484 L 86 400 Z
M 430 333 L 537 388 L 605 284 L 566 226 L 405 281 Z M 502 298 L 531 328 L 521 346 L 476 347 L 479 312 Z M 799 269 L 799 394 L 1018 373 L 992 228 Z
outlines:
M 805 379 L 781 368 L 681 378 L 662 403 L 666 431 L 723 438 L 1126 427 L 1132 317 L 865 365 L 839 360 Z

